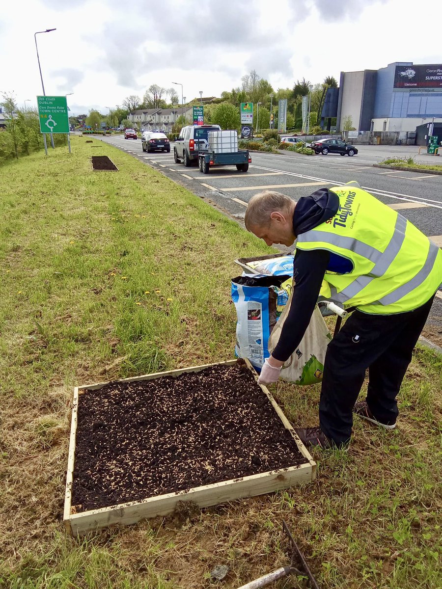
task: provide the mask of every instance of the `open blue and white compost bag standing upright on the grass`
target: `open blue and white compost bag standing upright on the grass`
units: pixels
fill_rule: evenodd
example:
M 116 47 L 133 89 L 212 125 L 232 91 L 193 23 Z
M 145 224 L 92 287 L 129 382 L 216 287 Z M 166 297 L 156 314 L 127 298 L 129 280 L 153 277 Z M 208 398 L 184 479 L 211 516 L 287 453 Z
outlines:
M 232 300 L 238 317 L 235 354 L 238 358 L 248 358 L 258 372 L 270 356 L 269 337 L 287 304 L 291 283 L 291 277 L 286 274 L 232 279 Z

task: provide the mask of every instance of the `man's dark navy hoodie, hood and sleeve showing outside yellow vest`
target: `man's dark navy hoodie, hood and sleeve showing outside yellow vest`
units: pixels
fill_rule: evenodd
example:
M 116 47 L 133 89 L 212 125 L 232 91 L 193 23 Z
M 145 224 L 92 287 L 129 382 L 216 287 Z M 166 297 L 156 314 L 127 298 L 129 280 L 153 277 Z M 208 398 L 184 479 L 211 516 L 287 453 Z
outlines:
M 339 198 L 337 194 L 321 188 L 310 196 L 299 198 L 293 213 L 293 231 L 297 237 L 300 233 L 318 227 L 337 213 Z M 298 348 L 308 327 L 312 313 L 318 302 L 319 290 L 325 270 L 346 273 L 351 271 L 351 264 L 326 250 L 310 252 L 296 250 L 293 261 L 293 297 L 286 317 L 278 345 L 272 352 L 273 358 L 287 360 Z

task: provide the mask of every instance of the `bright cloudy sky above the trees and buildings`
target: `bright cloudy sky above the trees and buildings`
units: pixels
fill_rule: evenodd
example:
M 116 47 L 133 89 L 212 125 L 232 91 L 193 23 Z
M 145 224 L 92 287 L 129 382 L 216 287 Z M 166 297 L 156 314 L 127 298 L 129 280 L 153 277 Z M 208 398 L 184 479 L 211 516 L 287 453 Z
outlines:
M 394 61 L 437 64 L 441 16 L 440 0 L 3 2 L 0 92 L 37 104 L 34 32 L 47 28 L 57 30 L 37 35 L 45 91 L 74 92 L 68 105 L 80 114 L 142 98 L 150 84 L 181 82 L 187 101 L 219 96 L 253 69 L 277 90 Z

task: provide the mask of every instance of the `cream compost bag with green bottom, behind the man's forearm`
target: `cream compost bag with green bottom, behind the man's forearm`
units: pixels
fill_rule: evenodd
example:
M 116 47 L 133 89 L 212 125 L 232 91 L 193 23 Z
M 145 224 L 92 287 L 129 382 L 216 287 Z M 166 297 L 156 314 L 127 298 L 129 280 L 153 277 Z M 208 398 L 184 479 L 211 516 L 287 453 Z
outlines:
M 273 327 L 268 342 L 269 353 L 272 353 L 279 341 L 285 318 L 290 309 L 292 296 L 293 291 L 290 293 L 278 323 Z M 295 352 L 284 362 L 279 376 L 283 380 L 294 382 L 296 385 L 314 385 L 320 382 L 324 372 L 325 353 L 331 339 L 332 337 L 322 318 L 321 311 L 316 305 L 304 337 L 302 337 Z

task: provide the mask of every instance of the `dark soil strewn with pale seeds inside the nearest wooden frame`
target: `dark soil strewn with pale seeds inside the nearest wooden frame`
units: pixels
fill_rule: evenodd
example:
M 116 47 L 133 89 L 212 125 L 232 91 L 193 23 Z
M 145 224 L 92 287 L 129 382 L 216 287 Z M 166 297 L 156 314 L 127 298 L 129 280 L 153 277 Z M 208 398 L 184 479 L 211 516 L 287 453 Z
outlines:
M 72 505 L 87 511 L 304 464 L 245 366 L 79 395 Z

